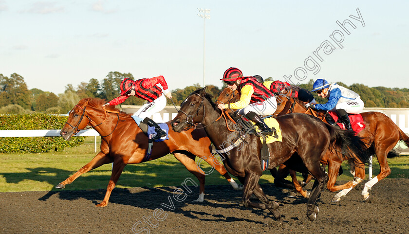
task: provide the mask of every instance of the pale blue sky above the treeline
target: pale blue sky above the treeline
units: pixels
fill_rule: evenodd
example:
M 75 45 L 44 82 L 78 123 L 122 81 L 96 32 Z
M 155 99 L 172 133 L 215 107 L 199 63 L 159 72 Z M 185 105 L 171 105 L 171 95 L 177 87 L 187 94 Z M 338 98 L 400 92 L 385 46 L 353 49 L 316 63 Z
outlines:
M 220 87 L 223 72 L 237 67 L 264 78 L 292 75 L 293 83 L 324 78 L 409 88 L 403 0 L 0 0 L 0 73 L 16 72 L 29 89 L 55 93 L 113 71 L 136 79 L 164 75 L 171 90 L 203 85 L 204 19 L 197 8 L 211 9 L 205 84 Z M 336 23 L 346 19 L 355 26 L 345 24 L 349 35 Z M 335 42 L 342 37 L 343 48 Z

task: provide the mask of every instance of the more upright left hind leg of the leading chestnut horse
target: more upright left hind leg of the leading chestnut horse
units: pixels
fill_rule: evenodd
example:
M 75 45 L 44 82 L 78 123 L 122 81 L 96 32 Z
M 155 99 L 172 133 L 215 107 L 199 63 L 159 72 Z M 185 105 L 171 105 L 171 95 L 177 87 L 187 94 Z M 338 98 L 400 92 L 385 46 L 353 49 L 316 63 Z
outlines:
M 182 153 L 173 153 L 175 158 L 181 162 L 186 169 L 195 175 L 195 177 L 199 180 L 199 198 L 194 201 L 202 202 L 205 200 L 205 172 L 203 170 L 199 170 L 199 167 L 196 165 L 194 160 L 195 156 L 192 155 L 191 157 L 186 156 L 186 154 Z M 227 173 L 227 172 L 226 172 Z

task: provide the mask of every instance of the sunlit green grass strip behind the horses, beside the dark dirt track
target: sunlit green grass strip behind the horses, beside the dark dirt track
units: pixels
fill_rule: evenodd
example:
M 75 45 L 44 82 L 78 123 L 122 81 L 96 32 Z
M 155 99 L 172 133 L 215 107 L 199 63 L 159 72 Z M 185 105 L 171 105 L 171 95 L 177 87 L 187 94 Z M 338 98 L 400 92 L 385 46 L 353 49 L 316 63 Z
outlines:
M 99 137 L 97 138 L 99 150 Z M 0 154 L 0 192 L 49 191 L 57 190 L 55 186 L 73 175 L 78 169 L 90 162 L 96 155 L 94 137 L 87 137 L 85 144 L 66 148 L 61 152 L 37 154 Z M 376 157 L 373 160 L 373 174 L 379 172 Z M 388 178 L 409 178 L 409 156 L 388 159 L 392 174 Z M 210 170 L 208 164 L 201 165 Z M 66 190 L 105 189 L 111 177 L 111 164 L 103 165 L 83 174 Z M 349 166 L 343 164 L 344 173 L 338 180 L 352 180 Z M 368 179 L 368 168 L 366 168 Z M 180 186 L 186 179 L 197 179 L 173 155 L 144 162 L 129 164 L 118 180 L 118 188 L 143 186 Z M 287 180 L 290 180 L 288 177 Z M 238 182 L 238 180 L 236 180 Z M 260 183 L 272 183 L 269 171 L 263 173 Z M 206 185 L 228 184 L 217 171 L 206 176 Z

